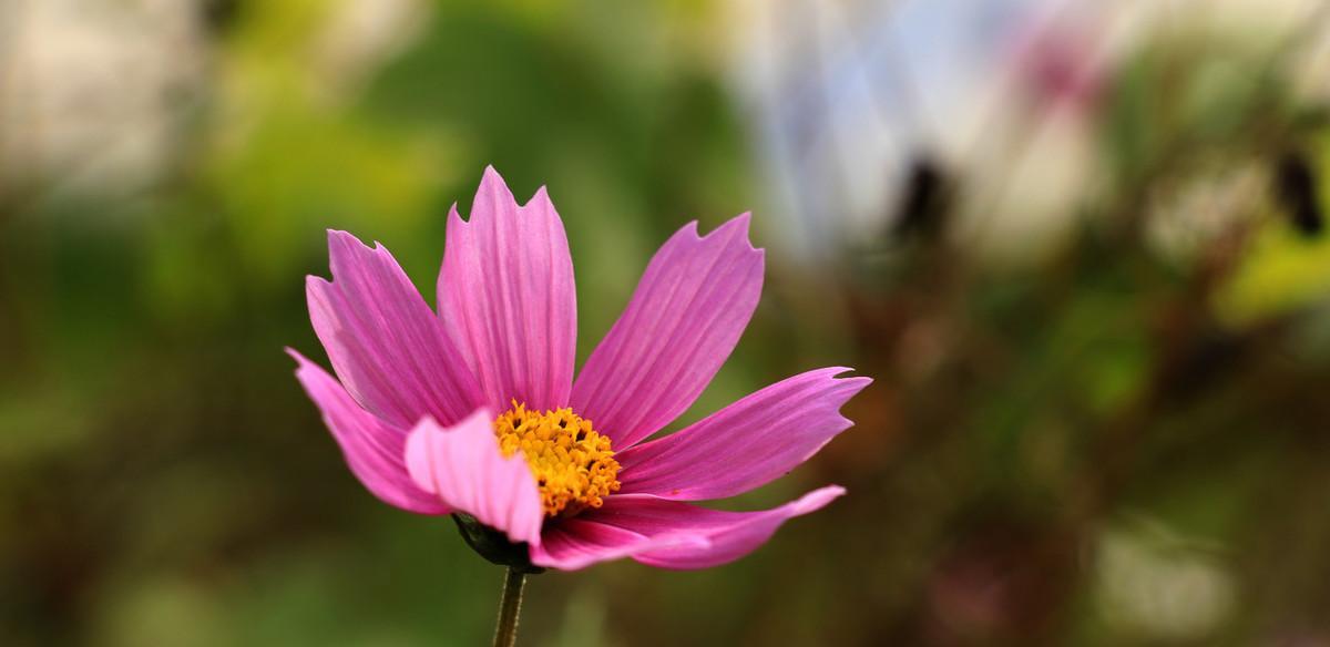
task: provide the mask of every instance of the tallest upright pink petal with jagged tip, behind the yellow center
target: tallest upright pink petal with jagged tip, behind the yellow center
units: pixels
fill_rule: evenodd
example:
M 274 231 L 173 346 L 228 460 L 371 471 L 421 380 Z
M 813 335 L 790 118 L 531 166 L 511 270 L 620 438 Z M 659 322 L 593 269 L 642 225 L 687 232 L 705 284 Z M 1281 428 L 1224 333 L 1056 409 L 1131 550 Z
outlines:
M 439 271 L 439 316 L 480 380 L 505 411 L 568 405 L 577 340 L 577 296 L 564 223 L 541 187 L 517 206 L 487 167 L 463 221 L 454 206 Z

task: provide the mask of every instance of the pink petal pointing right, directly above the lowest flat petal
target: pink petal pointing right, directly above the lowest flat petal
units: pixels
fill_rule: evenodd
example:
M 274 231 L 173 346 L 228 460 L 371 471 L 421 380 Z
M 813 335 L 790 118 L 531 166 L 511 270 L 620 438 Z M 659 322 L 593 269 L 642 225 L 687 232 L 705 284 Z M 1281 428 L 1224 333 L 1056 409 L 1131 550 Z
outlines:
M 823 368 L 753 393 L 664 438 L 618 452 L 621 494 L 698 501 L 789 473 L 854 422 L 841 405 L 872 380 Z

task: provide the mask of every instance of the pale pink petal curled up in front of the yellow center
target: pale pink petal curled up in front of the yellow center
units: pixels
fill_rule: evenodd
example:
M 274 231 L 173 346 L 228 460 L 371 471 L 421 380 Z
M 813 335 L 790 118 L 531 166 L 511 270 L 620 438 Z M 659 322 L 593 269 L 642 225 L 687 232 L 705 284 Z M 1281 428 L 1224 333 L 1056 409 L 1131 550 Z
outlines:
M 492 425 L 488 409 L 447 429 L 422 420 L 407 436 L 407 472 L 420 489 L 509 539 L 540 543 L 545 510 L 536 478 L 520 452 L 504 458 Z

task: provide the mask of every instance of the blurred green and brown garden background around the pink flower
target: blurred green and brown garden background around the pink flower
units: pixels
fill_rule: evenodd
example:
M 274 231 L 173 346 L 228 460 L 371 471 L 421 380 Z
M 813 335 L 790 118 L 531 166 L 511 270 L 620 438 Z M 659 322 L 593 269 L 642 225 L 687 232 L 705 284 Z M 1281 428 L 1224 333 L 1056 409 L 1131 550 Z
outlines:
M 1330 644 L 1323 0 L 0 0 L 0 643 L 481 644 L 501 571 L 367 494 L 293 377 L 325 229 L 432 300 L 548 185 L 580 359 L 745 210 L 684 422 L 858 426 L 730 566 L 535 578 L 524 644 Z M 677 426 L 677 425 L 676 425 Z

